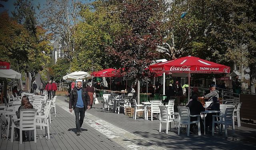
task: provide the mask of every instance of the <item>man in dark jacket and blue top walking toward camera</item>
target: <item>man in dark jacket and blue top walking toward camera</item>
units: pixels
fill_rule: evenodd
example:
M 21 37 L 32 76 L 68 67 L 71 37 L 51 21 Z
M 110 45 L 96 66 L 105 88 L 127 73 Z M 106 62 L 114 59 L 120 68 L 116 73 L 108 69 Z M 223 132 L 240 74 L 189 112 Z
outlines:
M 69 98 L 69 111 L 72 112 L 72 110 L 74 110 L 76 116 L 77 136 L 81 133 L 86 109 L 90 109 L 90 97 L 88 92 L 86 92 L 86 89 L 82 88 L 82 82 L 78 81 L 76 83 L 76 88 L 71 91 Z

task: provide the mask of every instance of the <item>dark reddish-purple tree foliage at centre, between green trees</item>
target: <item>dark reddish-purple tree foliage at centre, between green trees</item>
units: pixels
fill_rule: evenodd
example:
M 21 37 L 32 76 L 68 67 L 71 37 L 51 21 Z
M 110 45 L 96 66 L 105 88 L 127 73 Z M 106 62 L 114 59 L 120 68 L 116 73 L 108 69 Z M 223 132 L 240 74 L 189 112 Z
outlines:
M 166 10 L 161 0 L 126 0 L 106 2 L 113 5 L 125 30 L 116 35 L 107 50 L 120 63 L 122 75 L 142 78 L 148 76 L 147 68 L 158 57 L 156 44 L 158 29 L 162 22 L 162 12 Z

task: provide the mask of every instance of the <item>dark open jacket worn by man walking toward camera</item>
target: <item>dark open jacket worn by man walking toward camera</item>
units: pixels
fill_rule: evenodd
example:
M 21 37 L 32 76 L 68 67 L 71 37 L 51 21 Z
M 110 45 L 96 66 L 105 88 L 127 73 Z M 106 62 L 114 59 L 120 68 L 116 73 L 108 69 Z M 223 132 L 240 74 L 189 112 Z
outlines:
M 84 109 L 87 109 L 87 106 L 90 106 L 90 97 L 88 95 L 88 92 L 86 92 L 85 88 L 81 88 L 82 90 L 82 100 L 84 102 Z M 74 88 L 69 97 L 69 109 L 73 108 L 75 109 L 77 102 L 77 88 Z

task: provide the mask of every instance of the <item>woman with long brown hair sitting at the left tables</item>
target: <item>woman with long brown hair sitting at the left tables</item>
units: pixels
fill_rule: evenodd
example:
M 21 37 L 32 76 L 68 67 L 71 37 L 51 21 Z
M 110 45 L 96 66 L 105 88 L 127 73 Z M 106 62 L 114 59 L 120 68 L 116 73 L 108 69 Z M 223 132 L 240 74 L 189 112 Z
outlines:
M 18 111 L 16 112 L 17 118 L 20 118 L 20 110 L 22 109 L 33 109 L 33 105 L 30 104 L 28 96 L 23 96 L 21 99 L 21 106 L 19 107 Z M 20 122 L 15 122 L 15 124 L 19 125 Z M 18 138 L 16 138 L 16 140 L 20 140 L 20 129 L 16 128 L 16 132 L 18 134 Z M 36 137 L 35 137 L 36 138 Z M 22 139 L 26 139 L 25 137 L 25 131 L 22 131 Z

